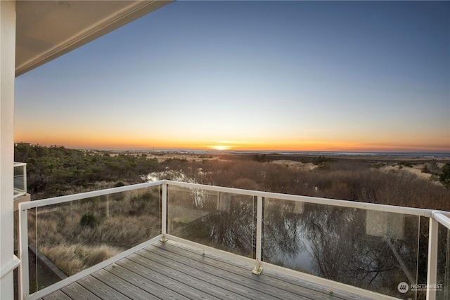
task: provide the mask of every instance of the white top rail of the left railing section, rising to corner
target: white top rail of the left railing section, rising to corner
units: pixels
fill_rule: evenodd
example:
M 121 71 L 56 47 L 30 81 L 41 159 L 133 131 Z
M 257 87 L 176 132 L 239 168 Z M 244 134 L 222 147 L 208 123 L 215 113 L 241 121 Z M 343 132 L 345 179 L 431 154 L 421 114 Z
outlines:
M 155 182 L 151 182 L 151 183 L 139 183 L 139 184 L 135 184 L 135 185 L 125 185 L 125 186 L 121 186 L 119 188 L 108 188 L 105 190 L 95 190 L 93 192 L 53 197 L 53 198 L 44 199 L 44 200 L 34 200 L 34 201 L 30 201 L 30 202 L 20 203 L 19 209 L 32 209 L 34 207 L 45 207 L 47 205 L 71 202 L 71 201 L 75 201 L 75 200 L 82 200 L 82 199 L 86 199 L 86 198 L 98 197 L 98 196 L 103 196 L 103 195 L 108 195 L 108 194 L 113 194 L 113 193 L 120 193 L 120 192 L 125 192 L 127 190 L 137 190 L 139 188 L 150 188 L 152 186 L 158 186 L 161 184 L 162 184 L 162 181 L 155 181 Z

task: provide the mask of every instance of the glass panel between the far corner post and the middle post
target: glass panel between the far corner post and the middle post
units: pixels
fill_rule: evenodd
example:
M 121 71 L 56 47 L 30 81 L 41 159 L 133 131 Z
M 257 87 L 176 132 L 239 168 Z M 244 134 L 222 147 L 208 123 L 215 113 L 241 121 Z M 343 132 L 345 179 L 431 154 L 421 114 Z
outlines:
M 167 233 L 251 258 L 254 201 L 248 195 L 168 185 Z

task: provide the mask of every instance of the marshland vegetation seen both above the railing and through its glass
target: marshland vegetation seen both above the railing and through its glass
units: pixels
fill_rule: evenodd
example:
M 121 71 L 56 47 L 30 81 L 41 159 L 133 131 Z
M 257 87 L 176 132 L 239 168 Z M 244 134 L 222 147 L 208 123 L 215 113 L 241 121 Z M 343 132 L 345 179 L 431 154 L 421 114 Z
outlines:
M 228 155 L 220 159 L 171 157 L 158 161 L 146 155 L 60 146 L 18 144 L 15 148 L 15 160 L 27 162 L 28 189 L 33 199 L 140 183 L 147 174 L 153 174 L 158 179 L 450 211 L 450 162 L 290 157 L 297 159 L 293 166 L 277 163 L 276 159 L 280 158 Z M 420 176 L 411 172 L 413 168 Z M 160 193 L 156 187 L 30 210 L 30 244 L 36 244 L 66 274 L 77 273 L 158 235 Z M 254 199 L 226 194 L 169 189 L 168 232 L 252 257 Z M 378 289 L 397 282 L 389 277 L 392 272 L 402 275 L 392 255 L 397 251 L 409 269 L 415 270 L 419 264 L 420 282 L 426 277 L 426 220 L 368 216 L 362 209 L 264 201 L 264 259 L 268 262 L 299 268 L 292 261 L 289 264 L 289 259 L 309 247 L 314 261 L 308 272 Z M 392 224 L 403 221 L 404 230 L 383 236 L 369 234 L 371 228 L 366 224 L 376 224 L 383 218 Z M 308 247 L 304 240 L 309 240 Z

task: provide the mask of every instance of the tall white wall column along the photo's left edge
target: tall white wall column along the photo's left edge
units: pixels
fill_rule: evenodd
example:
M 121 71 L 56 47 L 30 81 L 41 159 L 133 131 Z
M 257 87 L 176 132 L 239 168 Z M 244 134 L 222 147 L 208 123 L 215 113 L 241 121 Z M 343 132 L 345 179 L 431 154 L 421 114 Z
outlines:
M 0 1 L 0 299 L 14 299 L 15 1 Z

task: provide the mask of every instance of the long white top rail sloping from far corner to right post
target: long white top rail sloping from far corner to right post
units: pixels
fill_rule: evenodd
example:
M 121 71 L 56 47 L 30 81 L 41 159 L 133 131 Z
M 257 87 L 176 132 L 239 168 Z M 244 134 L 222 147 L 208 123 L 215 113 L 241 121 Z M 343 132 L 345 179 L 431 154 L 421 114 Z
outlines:
M 326 204 L 332 205 L 336 207 L 350 207 L 356 209 L 370 209 L 375 211 L 387 211 L 397 214 L 409 214 L 414 216 L 425 216 L 427 218 L 432 217 L 432 209 L 418 209 L 413 207 L 399 207 L 394 205 L 385 205 L 385 204 L 374 204 L 374 203 L 366 203 L 366 202 L 356 202 L 349 200 L 335 200 L 328 198 L 319 198 L 319 197 L 309 197 L 309 196 L 300 196 L 300 195 L 289 195 L 289 194 L 281 194 L 281 193 L 269 193 L 262 192 L 257 190 L 243 190 L 239 188 L 225 188 L 214 185 L 203 185 L 198 183 L 184 183 L 181 181 L 166 181 L 171 185 L 183 186 L 186 188 L 201 188 L 207 190 L 215 190 L 218 192 L 224 193 L 235 193 L 240 195 L 250 195 L 250 196 L 261 196 L 261 197 L 269 197 L 280 200 L 291 200 L 291 201 L 300 201 L 307 202 L 313 204 Z

